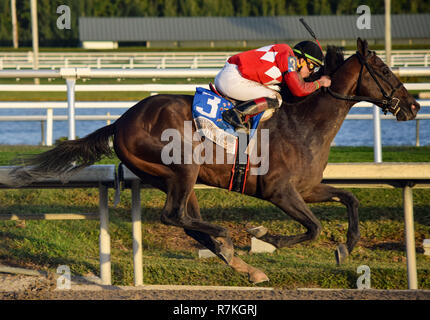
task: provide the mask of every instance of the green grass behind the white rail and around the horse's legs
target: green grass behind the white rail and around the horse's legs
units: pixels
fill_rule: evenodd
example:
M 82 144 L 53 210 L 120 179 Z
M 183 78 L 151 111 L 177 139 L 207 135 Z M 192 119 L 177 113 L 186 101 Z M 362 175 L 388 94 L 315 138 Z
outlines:
M 0 165 L 17 153 L 47 150 L 36 146 L 0 146 Z M 426 161 L 430 148 L 383 148 L 384 160 Z M 372 148 L 334 147 L 330 162 L 372 161 Z M 388 161 L 388 160 L 387 160 Z M 101 163 L 117 163 L 103 159 Z M 400 189 L 350 189 L 360 200 L 362 238 L 340 267 L 333 250 L 345 242 L 346 210 L 339 204 L 313 204 L 323 231 L 314 242 L 277 250 L 272 254 L 248 254 L 246 229 L 264 225 L 274 233 L 293 235 L 304 228 L 270 203 L 226 190 L 197 190 L 206 221 L 227 227 L 241 258 L 261 268 L 278 288 L 356 288 L 357 267 L 371 268 L 372 288 L 407 289 L 402 194 Z M 430 257 L 423 255 L 422 241 L 430 236 L 430 193 L 413 190 L 418 285 L 430 289 Z M 233 272 L 218 259 L 198 259 L 198 246 L 184 232 L 159 222 L 165 195 L 145 189 L 141 193 L 143 217 L 143 263 L 146 284 L 192 284 L 249 286 L 247 277 Z M 133 284 L 131 195 L 121 192 L 113 208 L 109 191 L 113 282 Z M 2 213 L 96 212 L 96 189 L 0 190 Z M 75 275 L 99 274 L 98 221 L 0 222 L 0 263 L 55 272 L 58 265 L 70 266 Z

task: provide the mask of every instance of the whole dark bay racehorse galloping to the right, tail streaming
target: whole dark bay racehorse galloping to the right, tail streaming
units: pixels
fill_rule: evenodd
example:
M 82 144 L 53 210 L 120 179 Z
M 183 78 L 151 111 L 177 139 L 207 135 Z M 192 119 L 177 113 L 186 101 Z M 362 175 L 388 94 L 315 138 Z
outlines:
M 271 234 L 265 228 L 251 231 L 278 248 L 315 239 L 321 223 L 306 203 L 336 201 L 347 208 L 346 245 L 340 244 L 340 263 L 360 238 L 358 200 L 345 190 L 322 184 L 330 145 L 352 105 L 358 100 L 374 102 L 396 115 L 398 121 L 411 120 L 419 104 L 367 42 L 357 40 L 357 53 L 347 60 L 343 53 L 328 50 L 325 73 L 330 74 L 329 91 L 319 90 L 298 103 L 286 104 L 258 131 L 269 130 L 269 168 L 264 175 L 249 175 L 245 194 L 275 204 L 301 223 L 306 232 L 294 236 Z M 167 142 L 163 132 L 176 129 L 184 140 L 184 122 L 192 121 L 190 95 L 157 95 L 146 98 L 125 112 L 115 123 L 75 141 L 66 141 L 29 159 L 13 174 L 17 182 L 29 183 L 44 176 L 73 172 L 111 155 L 109 139 L 118 158 L 145 183 L 167 194 L 161 221 L 184 228 L 185 232 L 209 248 L 229 266 L 248 273 L 250 281 L 268 280 L 260 270 L 234 255 L 228 231 L 202 220 L 193 187 L 197 181 L 228 189 L 232 164 L 171 163 L 162 160 Z M 192 128 L 195 132 L 195 127 Z M 193 142 L 192 148 L 198 142 Z M 261 152 L 261 145 L 258 145 Z M 182 150 L 184 152 L 184 150 Z M 260 153 L 261 154 L 261 153 Z

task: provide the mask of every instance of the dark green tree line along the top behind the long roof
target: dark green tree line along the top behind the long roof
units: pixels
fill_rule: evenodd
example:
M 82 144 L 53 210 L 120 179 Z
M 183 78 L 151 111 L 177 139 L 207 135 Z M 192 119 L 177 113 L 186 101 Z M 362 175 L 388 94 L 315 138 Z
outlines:
M 197 17 L 355 15 L 368 5 L 383 14 L 384 0 L 38 0 L 39 42 L 45 46 L 76 46 L 79 17 Z M 71 29 L 57 28 L 57 7 L 71 9 Z M 11 1 L 0 0 L 0 45 L 12 43 Z M 16 0 L 20 45 L 31 44 L 30 0 Z M 430 13 L 428 0 L 392 0 L 393 14 Z

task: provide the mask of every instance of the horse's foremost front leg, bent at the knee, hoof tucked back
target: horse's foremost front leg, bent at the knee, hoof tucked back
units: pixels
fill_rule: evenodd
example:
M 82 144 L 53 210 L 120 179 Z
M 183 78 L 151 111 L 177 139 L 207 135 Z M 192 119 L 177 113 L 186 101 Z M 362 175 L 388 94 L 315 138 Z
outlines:
M 357 198 L 349 191 L 337 189 L 325 184 L 319 184 L 312 190 L 306 202 L 325 202 L 336 201 L 343 203 L 348 210 L 348 232 L 346 234 L 346 247 L 344 244 L 339 244 L 336 249 L 337 263 L 342 263 L 345 258 L 351 253 L 360 239 L 360 230 L 358 223 L 358 205 Z

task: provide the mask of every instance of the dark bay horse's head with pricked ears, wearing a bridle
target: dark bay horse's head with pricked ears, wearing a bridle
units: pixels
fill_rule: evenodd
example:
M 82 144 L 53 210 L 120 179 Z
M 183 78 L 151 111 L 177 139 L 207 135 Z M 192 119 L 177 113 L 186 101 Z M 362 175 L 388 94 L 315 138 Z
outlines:
M 381 58 L 369 50 L 366 40 L 357 39 L 355 56 L 361 64 L 357 95 L 371 98 L 367 101 L 391 112 L 398 121 L 414 119 L 420 110 L 419 103 Z

